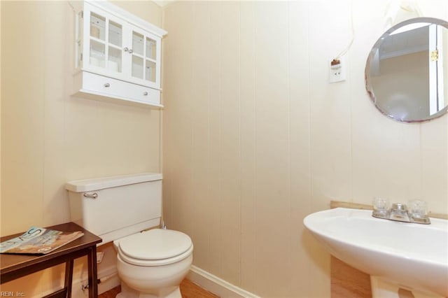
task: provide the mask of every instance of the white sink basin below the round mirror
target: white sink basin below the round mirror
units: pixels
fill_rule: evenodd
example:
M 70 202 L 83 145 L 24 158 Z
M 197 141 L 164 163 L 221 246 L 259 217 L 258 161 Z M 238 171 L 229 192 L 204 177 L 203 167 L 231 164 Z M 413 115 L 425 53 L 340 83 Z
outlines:
M 335 208 L 308 215 L 304 225 L 351 267 L 408 290 L 448 297 L 448 220 L 419 225 Z

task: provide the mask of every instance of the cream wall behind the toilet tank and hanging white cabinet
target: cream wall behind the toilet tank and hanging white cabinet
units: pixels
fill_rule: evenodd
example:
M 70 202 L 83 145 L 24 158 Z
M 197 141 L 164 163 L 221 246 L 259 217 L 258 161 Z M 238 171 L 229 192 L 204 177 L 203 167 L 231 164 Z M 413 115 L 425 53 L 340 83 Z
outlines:
M 161 25 L 151 1 L 116 4 Z M 69 221 L 67 180 L 161 171 L 160 111 L 70 96 L 72 21 L 67 1 L 1 1 L 2 236 Z M 41 297 L 59 276 L 2 290 Z

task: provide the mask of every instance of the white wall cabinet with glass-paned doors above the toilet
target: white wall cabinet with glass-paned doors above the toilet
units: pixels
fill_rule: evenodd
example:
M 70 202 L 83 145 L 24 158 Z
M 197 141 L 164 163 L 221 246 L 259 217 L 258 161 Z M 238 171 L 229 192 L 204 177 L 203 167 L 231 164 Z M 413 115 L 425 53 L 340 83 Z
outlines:
M 167 32 L 107 1 L 73 1 L 73 7 L 73 94 L 162 107 L 161 41 Z

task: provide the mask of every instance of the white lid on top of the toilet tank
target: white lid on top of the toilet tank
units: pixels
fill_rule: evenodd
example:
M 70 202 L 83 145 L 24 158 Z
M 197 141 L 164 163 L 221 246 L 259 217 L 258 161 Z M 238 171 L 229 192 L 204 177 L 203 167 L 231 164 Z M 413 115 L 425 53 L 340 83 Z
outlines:
M 92 190 L 103 190 L 104 188 L 109 187 L 117 187 L 155 180 L 162 180 L 162 174 L 137 173 L 122 176 L 73 180 L 65 184 L 65 189 L 71 192 L 91 192 Z

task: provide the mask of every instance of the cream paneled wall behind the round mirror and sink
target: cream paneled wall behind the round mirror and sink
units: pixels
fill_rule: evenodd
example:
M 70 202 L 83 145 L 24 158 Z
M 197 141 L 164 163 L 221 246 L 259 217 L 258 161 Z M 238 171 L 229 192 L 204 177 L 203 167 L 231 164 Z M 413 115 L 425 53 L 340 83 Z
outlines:
M 305 215 L 375 196 L 448 213 L 448 118 L 394 122 L 365 91 L 388 2 L 163 8 L 165 221 L 193 237 L 197 267 L 262 297 L 330 297 L 329 257 Z M 447 19 L 446 1 L 419 3 Z M 329 85 L 350 17 L 347 80 Z

